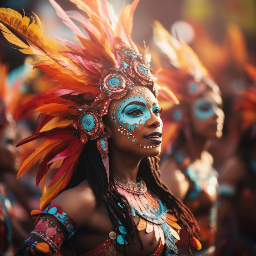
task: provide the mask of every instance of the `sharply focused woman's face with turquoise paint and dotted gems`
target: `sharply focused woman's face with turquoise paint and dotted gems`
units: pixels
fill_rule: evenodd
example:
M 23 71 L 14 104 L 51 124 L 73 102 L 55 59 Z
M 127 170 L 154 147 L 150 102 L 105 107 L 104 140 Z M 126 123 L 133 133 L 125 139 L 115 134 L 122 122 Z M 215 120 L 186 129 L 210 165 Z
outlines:
M 112 100 L 105 125 L 109 145 L 140 157 L 161 151 L 162 120 L 158 101 L 148 88 L 134 86 L 118 101 Z

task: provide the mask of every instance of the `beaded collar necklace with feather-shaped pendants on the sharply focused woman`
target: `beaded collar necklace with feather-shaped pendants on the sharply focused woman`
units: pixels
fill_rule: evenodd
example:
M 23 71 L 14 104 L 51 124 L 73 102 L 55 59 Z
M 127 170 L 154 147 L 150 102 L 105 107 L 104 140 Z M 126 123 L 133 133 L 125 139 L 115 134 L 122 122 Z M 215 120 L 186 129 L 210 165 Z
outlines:
M 156 195 L 148 191 L 143 180 L 133 183 L 115 177 L 114 182 L 117 191 L 128 200 L 132 215 L 140 217 L 137 229 L 146 230 L 147 233 L 154 232 L 156 240 L 161 239 L 162 245 L 166 244 L 166 256 L 177 255 L 175 239 L 180 240 L 177 229 L 181 227 L 176 223 L 177 218 L 172 215 L 171 210 L 168 210 Z

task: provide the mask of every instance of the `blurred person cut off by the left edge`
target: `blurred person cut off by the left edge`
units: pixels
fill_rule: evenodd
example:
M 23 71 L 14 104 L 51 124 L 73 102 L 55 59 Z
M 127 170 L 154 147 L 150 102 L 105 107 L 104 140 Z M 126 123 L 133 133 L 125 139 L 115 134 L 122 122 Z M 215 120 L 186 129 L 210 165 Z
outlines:
M 16 122 L 8 112 L 7 65 L 0 64 L 0 255 L 11 255 L 15 245 L 27 237 L 21 223 L 16 218 L 8 198 L 11 176 L 20 167 L 19 151 L 16 148 Z M 12 180 L 12 178 L 11 178 Z M 20 186 L 16 188 L 21 189 Z M 21 191 L 22 193 L 22 191 Z

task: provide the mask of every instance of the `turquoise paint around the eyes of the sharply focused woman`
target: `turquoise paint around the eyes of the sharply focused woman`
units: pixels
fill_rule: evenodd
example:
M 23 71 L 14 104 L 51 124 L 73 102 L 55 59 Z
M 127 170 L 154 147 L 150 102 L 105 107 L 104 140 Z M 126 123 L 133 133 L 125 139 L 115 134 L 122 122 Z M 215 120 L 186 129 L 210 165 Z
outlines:
M 153 106 L 148 103 L 143 96 L 131 96 L 119 103 L 117 108 L 117 122 L 127 127 L 129 131 L 134 131 L 135 127 L 145 122 L 151 117 L 150 109 L 155 114 L 159 113 L 159 106 L 155 103 Z

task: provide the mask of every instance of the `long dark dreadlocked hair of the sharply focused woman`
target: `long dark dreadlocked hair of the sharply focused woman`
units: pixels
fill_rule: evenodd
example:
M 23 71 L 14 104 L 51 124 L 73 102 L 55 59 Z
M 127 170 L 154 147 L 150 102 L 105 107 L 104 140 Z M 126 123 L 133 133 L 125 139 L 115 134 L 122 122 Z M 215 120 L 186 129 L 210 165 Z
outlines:
M 139 164 L 138 177 L 142 178 L 148 189 L 157 195 L 168 209 L 171 209 L 176 218 L 180 220 L 180 225 L 186 230 L 190 237 L 189 252 L 192 255 L 190 246 L 193 236 L 199 239 L 195 229 L 198 228 L 197 222 L 191 211 L 183 204 L 181 200 L 175 197 L 168 187 L 161 181 L 159 171 L 158 157 L 144 157 Z M 132 211 L 128 200 L 121 195 L 115 186 L 114 175 L 110 169 L 110 184 L 106 177 L 106 170 L 101 161 L 101 156 L 97 150 L 94 140 L 85 144 L 83 152 L 80 155 L 76 172 L 72 176 L 70 183 L 64 190 L 77 186 L 81 181 L 88 180 L 96 198 L 103 202 L 111 222 L 115 227 L 119 226 L 118 220 L 124 225 L 127 231 L 127 237 L 135 243 L 138 238 L 143 250 L 142 241 L 132 216 Z M 130 246 L 130 243 L 128 243 Z

